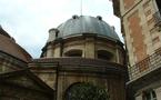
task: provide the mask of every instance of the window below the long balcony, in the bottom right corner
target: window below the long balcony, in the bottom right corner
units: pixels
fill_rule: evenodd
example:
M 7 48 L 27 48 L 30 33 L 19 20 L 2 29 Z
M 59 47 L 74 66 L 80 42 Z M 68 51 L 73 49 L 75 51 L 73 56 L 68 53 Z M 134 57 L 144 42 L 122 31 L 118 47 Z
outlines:
M 144 92 L 144 100 L 157 100 L 155 92 L 153 90 Z

